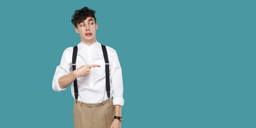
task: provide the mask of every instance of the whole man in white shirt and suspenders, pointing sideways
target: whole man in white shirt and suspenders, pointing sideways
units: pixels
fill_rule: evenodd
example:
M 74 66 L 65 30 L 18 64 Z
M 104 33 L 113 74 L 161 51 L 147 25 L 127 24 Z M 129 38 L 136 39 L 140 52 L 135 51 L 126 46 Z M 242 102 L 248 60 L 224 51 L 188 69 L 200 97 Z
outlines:
M 72 83 L 74 128 L 121 128 L 121 66 L 116 50 L 97 41 L 94 14 L 94 10 L 84 7 L 72 16 L 81 42 L 64 50 L 52 88 L 62 91 Z

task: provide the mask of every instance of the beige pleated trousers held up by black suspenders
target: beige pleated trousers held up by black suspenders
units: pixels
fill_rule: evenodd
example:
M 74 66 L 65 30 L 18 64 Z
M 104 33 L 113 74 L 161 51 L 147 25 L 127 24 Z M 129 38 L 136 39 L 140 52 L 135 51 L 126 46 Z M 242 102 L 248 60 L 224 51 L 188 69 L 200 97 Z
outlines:
M 76 103 L 74 99 L 74 128 L 110 128 L 114 114 L 112 97 L 101 103 Z

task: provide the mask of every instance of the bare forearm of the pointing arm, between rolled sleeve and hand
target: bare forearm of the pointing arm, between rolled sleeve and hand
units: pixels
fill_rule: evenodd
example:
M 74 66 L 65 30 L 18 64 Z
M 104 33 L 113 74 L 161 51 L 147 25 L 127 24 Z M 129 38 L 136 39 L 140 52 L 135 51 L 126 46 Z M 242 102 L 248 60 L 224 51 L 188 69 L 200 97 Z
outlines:
M 66 87 L 68 87 L 76 78 L 78 78 L 78 76 L 76 75 L 76 72 L 73 71 L 71 73 L 69 73 L 68 75 L 62 76 L 59 79 L 59 85 L 61 89 L 65 89 Z

